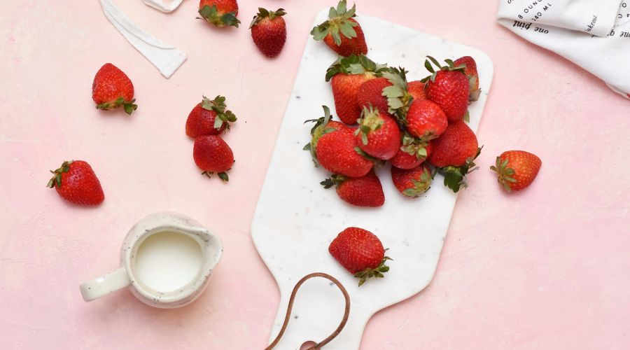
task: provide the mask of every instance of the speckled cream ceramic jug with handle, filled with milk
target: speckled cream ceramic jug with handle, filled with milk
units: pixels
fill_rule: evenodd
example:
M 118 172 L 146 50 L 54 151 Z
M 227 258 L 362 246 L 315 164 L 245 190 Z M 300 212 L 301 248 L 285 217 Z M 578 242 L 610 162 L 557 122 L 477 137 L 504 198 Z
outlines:
M 182 214 L 155 213 L 131 228 L 120 268 L 80 285 L 85 301 L 129 287 L 145 304 L 173 308 L 197 299 L 223 253 L 218 235 Z

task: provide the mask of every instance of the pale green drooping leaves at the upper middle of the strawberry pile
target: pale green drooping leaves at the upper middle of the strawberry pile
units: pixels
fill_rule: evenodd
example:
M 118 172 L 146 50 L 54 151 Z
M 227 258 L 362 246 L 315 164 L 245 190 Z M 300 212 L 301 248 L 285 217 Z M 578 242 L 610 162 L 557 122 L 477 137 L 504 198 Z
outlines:
M 383 89 L 383 96 L 387 98 L 388 113 L 396 117 L 398 124 L 407 124 L 407 112 L 413 101 L 413 97 L 407 90 L 407 71 L 404 68 L 390 68 L 382 73 L 391 83 L 391 86 Z

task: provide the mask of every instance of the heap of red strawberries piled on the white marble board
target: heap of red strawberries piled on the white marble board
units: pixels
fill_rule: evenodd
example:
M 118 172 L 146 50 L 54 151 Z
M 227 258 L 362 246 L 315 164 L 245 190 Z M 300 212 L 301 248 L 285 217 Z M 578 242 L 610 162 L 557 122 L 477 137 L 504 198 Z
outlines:
M 437 172 L 457 192 L 481 148 L 466 124 L 468 104 L 479 98 L 479 75 L 472 57 L 433 57 L 430 76 L 407 81 L 405 69 L 372 62 L 365 54 L 363 30 L 346 1 L 330 9 L 329 19 L 311 31 L 340 56 L 326 71 L 337 116 L 330 109 L 314 121 L 311 151 L 316 166 L 332 172 L 321 184 L 335 186 L 345 202 L 380 207 L 385 198 L 374 165 L 391 162 L 391 178 L 403 195 L 418 197 Z

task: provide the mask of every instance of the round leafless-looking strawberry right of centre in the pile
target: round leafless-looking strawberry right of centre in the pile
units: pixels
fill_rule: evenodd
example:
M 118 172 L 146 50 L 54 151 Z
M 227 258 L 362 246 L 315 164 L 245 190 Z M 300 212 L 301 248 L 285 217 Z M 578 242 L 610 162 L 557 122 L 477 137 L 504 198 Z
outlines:
M 406 118 L 407 132 L 425 141 L 439 137 L 449 125 L 442 108 L 428 99 L 414 100 Z

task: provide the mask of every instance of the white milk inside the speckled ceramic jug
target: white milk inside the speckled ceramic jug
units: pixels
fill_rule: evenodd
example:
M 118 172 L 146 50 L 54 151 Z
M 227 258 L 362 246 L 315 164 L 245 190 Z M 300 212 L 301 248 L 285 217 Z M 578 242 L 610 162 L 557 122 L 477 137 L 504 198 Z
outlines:
M 146 286 L 167 293 L 197 279 L 202 264 L 202 249 L 193 237 L 158 232 L 140 244 L 135 274 Z

